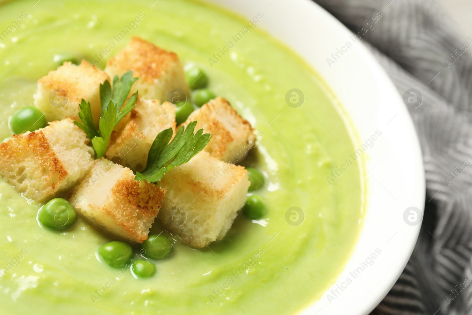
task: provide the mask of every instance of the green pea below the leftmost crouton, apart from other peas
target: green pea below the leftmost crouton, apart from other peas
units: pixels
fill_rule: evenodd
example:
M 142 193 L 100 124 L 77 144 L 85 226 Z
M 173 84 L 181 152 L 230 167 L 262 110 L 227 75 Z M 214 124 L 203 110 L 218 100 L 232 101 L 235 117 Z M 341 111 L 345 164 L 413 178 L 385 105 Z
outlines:
M 42 225 L 54 230 L 66 229 L 74 224 L 76 219 L 76 211 L 63 198 L 48 201 L 42 206 L 38 215 L 38 220 Z

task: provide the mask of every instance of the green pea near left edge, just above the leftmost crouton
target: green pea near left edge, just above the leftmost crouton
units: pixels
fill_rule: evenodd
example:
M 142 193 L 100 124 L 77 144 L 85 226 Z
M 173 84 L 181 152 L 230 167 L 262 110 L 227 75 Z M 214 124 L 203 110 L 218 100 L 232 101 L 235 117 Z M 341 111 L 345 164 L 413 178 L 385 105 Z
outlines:
M 34 131 L 46 125 L 44 113 L 34 106 L 23 107 L 10 117 L 10 129 L 15 135 Z

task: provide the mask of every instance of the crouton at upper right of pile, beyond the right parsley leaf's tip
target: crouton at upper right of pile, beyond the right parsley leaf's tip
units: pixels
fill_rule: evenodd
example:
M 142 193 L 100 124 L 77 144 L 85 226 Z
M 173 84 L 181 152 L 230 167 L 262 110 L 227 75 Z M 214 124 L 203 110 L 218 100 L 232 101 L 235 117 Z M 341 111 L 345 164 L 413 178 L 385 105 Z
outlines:
M 195 130 L 203 128 L 204 133 L 212 134 L 204 150 L 221 161 L 236 163 L 242 160 L 254 145 L 255 137 L 251 124 L 239 116 L 222 97 L 211 100 L 191 113 L 179 128 L 195 120 Z

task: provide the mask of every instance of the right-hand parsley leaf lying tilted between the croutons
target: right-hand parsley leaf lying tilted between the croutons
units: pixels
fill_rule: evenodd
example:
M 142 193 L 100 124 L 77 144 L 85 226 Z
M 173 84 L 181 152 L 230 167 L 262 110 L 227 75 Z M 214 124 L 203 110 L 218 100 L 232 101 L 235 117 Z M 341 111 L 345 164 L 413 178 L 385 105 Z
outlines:
M 135 180 L 156 183 L 167 171 L 190 161 L 195 154 L 202 151 L 211 136 L 203 134 L 203 129 L 194 134 L 196 124 L 196 121 L 192 121 L 186 129 L 185 127 L 180 128 L 170 143 L 172 128 L 161 131 L 151 145 L 146 168 L 143 173 L 136 172 Z

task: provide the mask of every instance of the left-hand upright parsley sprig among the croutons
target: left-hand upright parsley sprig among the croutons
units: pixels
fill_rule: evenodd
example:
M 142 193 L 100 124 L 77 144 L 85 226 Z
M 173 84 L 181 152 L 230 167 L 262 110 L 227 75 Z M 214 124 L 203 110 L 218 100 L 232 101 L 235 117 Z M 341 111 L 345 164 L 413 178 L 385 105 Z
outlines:
M 111 90 L 108 80 L 100 84 L 101 117 L 98 122 L 98 130 L 93 123 L 90 102 L 85 102 L 85 100 L 82 99 L 79 112 L 79 117 L 82 122 L 74 122 L 79 128 L 84 130 L 87 137 L 92 141 L 95 158 L 101 158 L 105 154 L 108 142 L 110 141 L 111 132 L 118 122 L 135 107 L 138 98 L 137 91 L 130 97 L 126 104 L 125 101 L 131 90 L 131 86 L 136 80 L 137 78 L 133 77 L 133 70 L 130 70 L 121 77 L 121 80 L 118 76 L 113 78 L 113 91 Z M 123 104 L 125 104 L 125 106 L 123 106 Z

